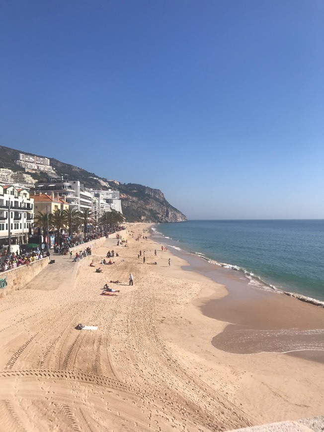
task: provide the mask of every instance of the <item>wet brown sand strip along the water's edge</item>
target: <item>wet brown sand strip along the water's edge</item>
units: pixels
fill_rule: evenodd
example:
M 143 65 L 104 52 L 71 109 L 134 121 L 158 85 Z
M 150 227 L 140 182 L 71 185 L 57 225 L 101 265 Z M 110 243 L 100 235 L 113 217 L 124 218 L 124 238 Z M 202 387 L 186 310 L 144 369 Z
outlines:
M 296 353 L 300 358 L 324 363 L 322 307 L 278 290 L 250 285 L 242 273 L 215 267 L 201 255 L 174 247 L 172 253 L 188 262 L 185 271 L 198 272 L 226 289 L 222 298 L 212 294 L 208 299 L 196 300 L 205 316 L 226 323 L 224 330 L 213 337 L 215 348 L 233 354 Z

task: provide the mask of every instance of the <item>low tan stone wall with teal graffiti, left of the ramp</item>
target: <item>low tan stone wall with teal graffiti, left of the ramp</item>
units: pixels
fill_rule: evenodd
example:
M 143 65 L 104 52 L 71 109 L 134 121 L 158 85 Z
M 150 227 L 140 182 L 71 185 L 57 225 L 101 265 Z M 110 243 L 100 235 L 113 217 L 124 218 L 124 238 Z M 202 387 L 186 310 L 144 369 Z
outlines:
M 0 298 L 8 292 L 24 288 L 32 279 L 35 278 L 43 269 L 48 266 L 48 257 L 34 261 L 30 266 L 19 266 L 12 270 L 0 273 Z M 3 282 L 5 280 L 5 282 Z M 1 282 L 2 281 L 2 282 Z M 6 286 L 4 287 L 6 283 Z

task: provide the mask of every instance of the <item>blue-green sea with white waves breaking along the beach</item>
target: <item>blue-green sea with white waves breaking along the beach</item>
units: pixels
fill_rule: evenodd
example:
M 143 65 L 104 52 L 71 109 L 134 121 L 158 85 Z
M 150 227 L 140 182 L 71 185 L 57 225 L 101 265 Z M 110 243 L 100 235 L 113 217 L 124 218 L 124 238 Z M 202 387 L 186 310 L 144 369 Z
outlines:
M 155 228 L 169 246 L 228 264 L 253 284 L 324 300 L 324 219 L 189 220 Z

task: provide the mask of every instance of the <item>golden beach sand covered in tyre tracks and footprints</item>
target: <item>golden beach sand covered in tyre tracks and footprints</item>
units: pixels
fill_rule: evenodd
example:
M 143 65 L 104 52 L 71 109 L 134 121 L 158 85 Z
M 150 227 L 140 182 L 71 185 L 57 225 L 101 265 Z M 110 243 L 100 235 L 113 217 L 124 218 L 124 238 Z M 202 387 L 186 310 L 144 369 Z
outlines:
M 324 311 L 282 295 L 267 309 L 263 294 L 238 307 L 235 283 L 185 271 L 187 262 L 148 234 L 136 241 L 149 227 L 131 224 L 134 237 L 121 233 L 128 247 L 113 235 L 80 263 L 56 257 L 0 300 L 0 431 L 226 431 L 323 414 L 321 358 L 238 354 L 215 338 L 228 333 L 233 347 L 228 322 L 263 331 L 274 310 L 273 331 L 309 329 L 308 316 L 317 329 Z M 88 264 L 108 249 L 119 257 L 97 274 Z M 107 282 L 120 292 L 100 295 Z M 242 347 L 255 350 L 246 340 Z

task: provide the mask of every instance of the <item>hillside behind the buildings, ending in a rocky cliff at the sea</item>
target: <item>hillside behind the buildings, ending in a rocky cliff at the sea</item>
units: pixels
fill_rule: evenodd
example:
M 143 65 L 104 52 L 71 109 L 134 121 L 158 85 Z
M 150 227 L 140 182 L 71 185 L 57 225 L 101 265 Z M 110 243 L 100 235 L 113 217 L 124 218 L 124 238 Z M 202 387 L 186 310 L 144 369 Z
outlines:
M 14 162 L 18 159 L 19 153 L 34 154 L 0 145 L 0 168 L 10 168 L 13 171 L 24 172 L 24 168 L 16 165 Z M 42 157 L 48 156 L 43 155 Z M 117 186 L 106 178 L 99 177 L 83 168 L 61 162 L 52 157 L 49 159 L 50 164 L 55 168 L 58 175 L 68 176 L 70 180 L 79 180 L 87 188 L 107 189 L 109 185 L 110 189 L 119 190 L 123 214 L 129 222 L 182 222 L 187 220 L 183 213 L 172 207 L 165 200 L 163 193 L 159 189 L 152 189 L 134 183 L 120 183 Z M 38 181 L 45 182 L 48 180 L 48 175 L 44 171 L 28 174 Z

